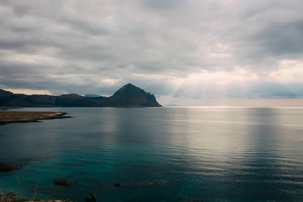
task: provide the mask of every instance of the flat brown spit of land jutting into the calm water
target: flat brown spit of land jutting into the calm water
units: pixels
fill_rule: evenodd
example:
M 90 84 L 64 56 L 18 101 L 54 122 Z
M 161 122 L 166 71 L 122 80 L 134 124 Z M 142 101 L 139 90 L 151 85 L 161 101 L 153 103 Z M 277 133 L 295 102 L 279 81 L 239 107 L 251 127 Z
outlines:
M 65 116 L 64 112 L 10 112 L 0 111 L 0 124 L 1 123 L 24 123 L 24 122 L 37 122 L 46 119 L 65 119 L 71 118 Z

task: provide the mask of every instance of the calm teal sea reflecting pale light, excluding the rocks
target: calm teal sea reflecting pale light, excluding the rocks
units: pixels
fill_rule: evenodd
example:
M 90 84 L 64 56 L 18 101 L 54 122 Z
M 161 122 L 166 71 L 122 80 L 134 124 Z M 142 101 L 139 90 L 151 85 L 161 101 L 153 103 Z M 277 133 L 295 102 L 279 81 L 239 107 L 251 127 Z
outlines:
M 0 162 L 27 163 L 0 188 L 28 198 L 38 181 L 38 198 L 76 201 L 303 201 L 303 108 L 17 111 L 75 117 L 0 126 Z M 121 181 L 132 184 L 95 184 Z

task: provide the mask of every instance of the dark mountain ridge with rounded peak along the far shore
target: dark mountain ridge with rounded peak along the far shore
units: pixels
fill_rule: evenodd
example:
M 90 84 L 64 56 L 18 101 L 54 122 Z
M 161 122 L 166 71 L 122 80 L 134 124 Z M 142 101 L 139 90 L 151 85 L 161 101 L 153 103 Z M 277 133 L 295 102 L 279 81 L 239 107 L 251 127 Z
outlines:
M 85 97 L 78 94 L 26 95 L 0 89 L 0 106 L 18 107 L 162 107 L 155 95 L 126 84 L 110 97 Z

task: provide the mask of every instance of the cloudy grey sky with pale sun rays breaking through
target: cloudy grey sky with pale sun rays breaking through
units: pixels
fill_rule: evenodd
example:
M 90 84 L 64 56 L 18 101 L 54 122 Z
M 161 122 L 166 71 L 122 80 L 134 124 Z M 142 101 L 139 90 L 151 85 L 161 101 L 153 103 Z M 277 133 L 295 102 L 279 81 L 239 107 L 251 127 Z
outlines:
M 303 105 L 303 1 L 2 0 L 0 88 Z

